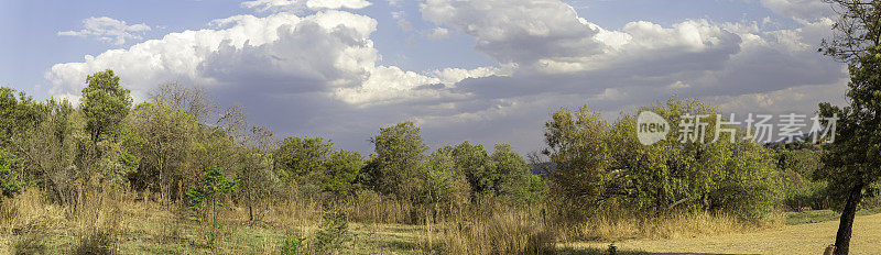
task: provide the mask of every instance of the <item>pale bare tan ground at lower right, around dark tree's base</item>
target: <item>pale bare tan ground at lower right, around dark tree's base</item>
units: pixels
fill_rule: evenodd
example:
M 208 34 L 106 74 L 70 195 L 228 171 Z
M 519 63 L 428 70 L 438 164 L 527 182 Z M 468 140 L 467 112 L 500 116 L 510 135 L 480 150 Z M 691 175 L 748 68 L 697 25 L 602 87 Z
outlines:
M 687 240 L 637 240 L 616 243 L 621 251 L 664 254 L 823 254 L 835 243 L 838 221 L 786 225 L 755 233 L 728 234 Z M 605 250 L 608 243 L 566 246 Z M 857 217 L 850 254 L 881 254 L 881 213 Z

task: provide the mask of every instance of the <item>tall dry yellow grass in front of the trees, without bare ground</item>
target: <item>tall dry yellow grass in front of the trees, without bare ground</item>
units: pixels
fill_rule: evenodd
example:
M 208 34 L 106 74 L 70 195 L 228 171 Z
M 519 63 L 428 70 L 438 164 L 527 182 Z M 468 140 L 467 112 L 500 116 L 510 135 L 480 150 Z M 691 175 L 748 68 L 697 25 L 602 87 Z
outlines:
M 98 231 L 107 237 L 98 243 L 123 254 L 280 254 L 285 239 L 314 239 L 327 207 L 346 212 L 354 239 L 345 247 L 355 254 L 548 254 L 557 252 L 557 243 L 688 239 L 768 226 L 706 212 L 575 219 L 548 212 L 551 206 L 518 208 L 493 201 L 426 208 L 367 193 L 337 204 L 308 199 L 267 202 L 258 222 L 249 222 L 248 211 L 233 206 L 220 212 L 218 245 L 208 247 L 200 234 L 205 226 L 186 218 L 183 206 L 104 190 L 78 195 L 76 208 L 53 203 L 34 188 L 3 201 L 0 255 L 11 254 L 13 247 L 72 253 Z

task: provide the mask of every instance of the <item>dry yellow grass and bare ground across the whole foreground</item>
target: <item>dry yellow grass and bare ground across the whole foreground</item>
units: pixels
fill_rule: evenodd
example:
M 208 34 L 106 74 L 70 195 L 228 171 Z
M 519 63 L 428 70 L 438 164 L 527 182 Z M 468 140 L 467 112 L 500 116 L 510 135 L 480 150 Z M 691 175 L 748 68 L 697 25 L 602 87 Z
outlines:
M 65 217 L 62 208 L 41 198 L 40 192 L 31 190 L 4 203 L 9 208 L 14 206 L 14 211 L 0 208 L 4 209 L 0 210 L 0 255 L 14 254 L 15 250 L 24 251 L 23 254 L 72 254 L 78 247 L 88 247 L 84 243 L 89 242 L 90 236 L 109 239 L 107 243 L 118 254 L 281 254 L 285 241 L 315 236 L 320 222 L 315 210 L 308 209 L 309 204 L 279 208 L 283 213 L 267 214 L 264 221 L 257 223 L 248 223 L 246 211 L 236 208 L 222 215 L 219 241 L 210 247 L 206 245 L 204 225 L 180 219 L 159 203 L 126 200 Z M 879 211 L 860 211 L 851 243 L 853 254 L 881 254 L 881 229 L 878 228 L 881 214 L 872 214 Z M 608 254 L 611 243 L 564 243 L 561 235 L 564 231 L 534 225 L 531 223 L 534 220 L 523 217 L 529 214 L 501 213 L 491 218 L 494 220 L 458 219 L 454 221 L 458 226 L 452 225 L 453 229 L 463 229 L 464 224 L 469 230 L 458 232 L 450 232 L 450 225 L 443 231 L 444 224 L 349 222 L 351 239 L 337 254 L 474 253 L 476 244 L 486 246 L 477 250 L 485 254 L 492 251 L 490 246 L 500 243 L 511 246 L 516 244 L 510 243 L 533 241 L 516 236 L 542 237 L 542 231 L 558 232 L 556 250 L 543 253 Z M 738 229 L 732 226 L 736 222 L 707 214 L 666 222 L 597 221 L 585 222 L 581 239 L 622 240 L 614 243 L 619 254 L 820 254 L 835 239 L 836 217 L 831 211 L 794 212 L 787 213 L 787 224 L 763 229 Z M 651 231 L 643 230 L 649 226 Z M 106 235 L 96 235 L 96 230 L 106 231 Z M 449 236 L 444 237 L 444 233 Z M 553 237 L 550 240 L 553 248 Z M 443 245 L 447 250 L 436 248 Z

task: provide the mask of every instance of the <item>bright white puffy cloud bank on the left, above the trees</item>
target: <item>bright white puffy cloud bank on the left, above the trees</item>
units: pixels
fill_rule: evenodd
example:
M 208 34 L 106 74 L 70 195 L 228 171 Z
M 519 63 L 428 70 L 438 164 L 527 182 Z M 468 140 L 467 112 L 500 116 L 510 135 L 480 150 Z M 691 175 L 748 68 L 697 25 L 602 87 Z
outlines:
M 290 12 L 265 18 L 236 15 L 211 22 L 218 30 L 171 33 L 161 40 L 54 65 L 46 79 L 51 95 L 75 95 L 89 74 L 113 69 L 137 98 L 155 85 L 178 79 L 206 87 L 235 87 L 275 93 L 320 92 L 347 103 L 368 106 L 443 91 L 417 89 L 483 77 L 492 68 L 418 74 L 377 66 L 380 56 L 369 38 L 377 21 L 344 11 L 308 16 Z M 260 87 L 263 86 L 263 87 Z

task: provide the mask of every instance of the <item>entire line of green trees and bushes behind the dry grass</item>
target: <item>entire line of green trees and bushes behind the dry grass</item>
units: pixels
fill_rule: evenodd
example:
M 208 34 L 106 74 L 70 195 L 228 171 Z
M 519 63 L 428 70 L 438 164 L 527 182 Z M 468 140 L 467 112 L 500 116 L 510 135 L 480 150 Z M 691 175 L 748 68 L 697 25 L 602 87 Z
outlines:
M 508 144 L 496 144 L 492 153 L 467 141 L 429 149 L 412 122 L 380 129 L 370 138 L 373 153 L 360 155 L 322 137 L 278 138 L 250 124 L 241 106 L 219 108 L 198 88 L 161 85 L 146 102 L 133 104 L 112 70 L 86 82 L 78 104 L 37 102 L 0 89 L 3 197 L 34 186 L 73 209 L 84 190 L 205 203 L 192 197 L 229 179 L 229 192 L 220 196 L 247 207 L 251 220 L 261 211 L 255 207 L 273 201 L 363 196 L 458 209 L 502 201 L 551 204 L 586 217 L 708 211 L 744 220 L 765 219 L 781 206 L 831 204 L 823 177 L 813 177 L 823 168 L 819 145 L 729 143 L 730 135 L 743 135 L 737 126 L 720 125 L 737 130 L 721 132 L 721 142 L 681 143 L 671 132 L 645 146 L 635 137 L 635 114 L 608 122 L 581 107 L 551 114 L 546 147 L 529 162 Z M 685 113 L 718 113 L 677 98 L 641 110 L 662 115 L 674 131 Z M 716 133 L 716 121 L 707 123 L 706 134 Z M 543 175 L 533 174 L 533 167 Z

